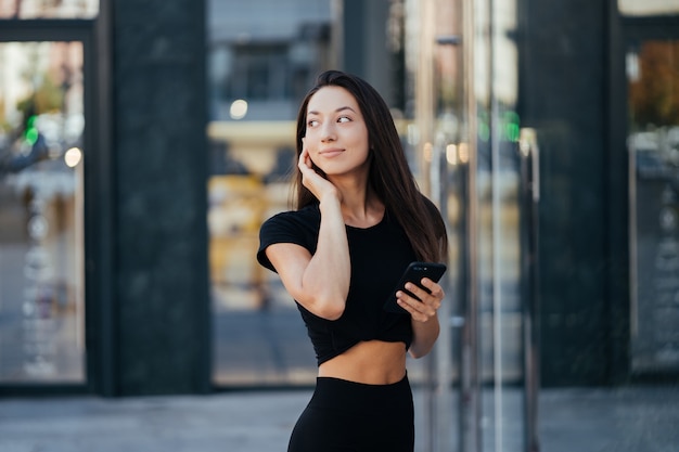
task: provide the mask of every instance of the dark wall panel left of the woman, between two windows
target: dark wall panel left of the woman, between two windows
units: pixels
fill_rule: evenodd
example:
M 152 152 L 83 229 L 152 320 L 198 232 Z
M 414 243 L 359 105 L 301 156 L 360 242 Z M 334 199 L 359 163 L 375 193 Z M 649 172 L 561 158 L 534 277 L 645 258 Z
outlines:
M 119 395 L 209 382 L 204 10 L 113 2 Z

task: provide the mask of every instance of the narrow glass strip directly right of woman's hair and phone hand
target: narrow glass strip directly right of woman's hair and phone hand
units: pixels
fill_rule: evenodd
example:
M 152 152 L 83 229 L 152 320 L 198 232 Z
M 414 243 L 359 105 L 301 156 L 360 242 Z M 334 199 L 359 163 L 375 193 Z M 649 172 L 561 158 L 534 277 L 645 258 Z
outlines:
M 462 332 L 475 324 L 462 312 L 471 256 L 464 245 L 472 242 L 466 240 L 470 141 L 461 8 L 461 1 L 405 1 L 406 85 L 407 92 L 413 93 L 405 112 L 407 152 L 420 188 L 441 211 L 450 244 L 449 270 L 441 281 L 447 296 L 438 311 L 441 328 L 436 347 L 424 359 L 409 363 L 409 374 L 423 388 L 419 392 L 419 406 L 423 408 L 419 450 L 426 452 L 459 450 L 465 428 L 459 412 L 461 400 L 467 396 L 471 404 L 477 400 L 475 390 L 462 393 L 460 382 L 472 374 L 462 375 L 467 367 L 459 363 L 466 345 Z

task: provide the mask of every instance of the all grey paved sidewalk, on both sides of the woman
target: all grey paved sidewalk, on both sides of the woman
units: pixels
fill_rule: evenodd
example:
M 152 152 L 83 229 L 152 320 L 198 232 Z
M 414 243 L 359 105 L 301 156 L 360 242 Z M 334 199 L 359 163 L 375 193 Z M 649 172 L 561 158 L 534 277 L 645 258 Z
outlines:
M 284 452 L 310 395 L 0 399 L 0 451 Z M 542 452 L 679 452 L 678 387 L 542 390 L 539 418 Z

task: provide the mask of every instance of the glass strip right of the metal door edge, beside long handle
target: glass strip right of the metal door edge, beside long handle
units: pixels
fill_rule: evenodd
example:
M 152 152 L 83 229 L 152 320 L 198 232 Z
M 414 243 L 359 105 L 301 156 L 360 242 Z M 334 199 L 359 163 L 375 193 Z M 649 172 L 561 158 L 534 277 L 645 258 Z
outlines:
M 481 379 L 481 450 L 527 450 L 524 430 L 521 292 L 521 120 L 515 0 L 475 2 L 473 92 L 476 118 L 477 323 Z M 471 307 L 470 307 L 471 308 Z M 486 419 L 485 422 L 483 419 Z M 463 436 L 473 435 L 463 431 Z

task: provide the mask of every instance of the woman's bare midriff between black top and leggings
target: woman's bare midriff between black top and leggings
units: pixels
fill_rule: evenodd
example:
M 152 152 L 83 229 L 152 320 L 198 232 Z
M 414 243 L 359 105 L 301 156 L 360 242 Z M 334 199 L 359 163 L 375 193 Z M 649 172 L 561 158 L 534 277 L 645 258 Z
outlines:
M 318 369 L 321 377 L 333 377 L 367 385 L 390 385 L 406 375 L 406 345 L 368 340 L 325 361 Z

